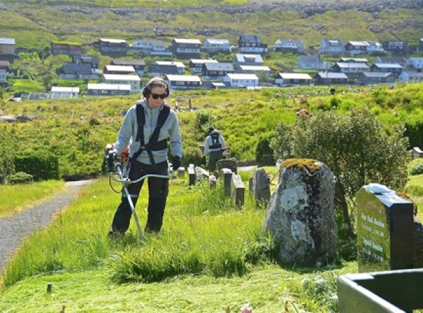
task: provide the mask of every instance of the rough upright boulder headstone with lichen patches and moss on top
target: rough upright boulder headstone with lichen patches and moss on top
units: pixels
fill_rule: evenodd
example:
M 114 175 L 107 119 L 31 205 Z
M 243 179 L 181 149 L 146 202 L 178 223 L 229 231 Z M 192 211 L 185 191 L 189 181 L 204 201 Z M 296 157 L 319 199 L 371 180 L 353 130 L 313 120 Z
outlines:
M 332 171 L 316 160 L 289 159 L 281 164 L 264 224 L 276 242 L 279 261 L 296 266 L 333 261 L 335 182 Z

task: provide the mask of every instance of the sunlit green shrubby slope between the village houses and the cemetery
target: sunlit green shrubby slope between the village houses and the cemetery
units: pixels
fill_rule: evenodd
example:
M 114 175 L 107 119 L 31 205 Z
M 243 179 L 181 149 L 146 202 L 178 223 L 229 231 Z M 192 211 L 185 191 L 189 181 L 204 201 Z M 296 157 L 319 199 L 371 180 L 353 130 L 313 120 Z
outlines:
M 422 84 L 349 89 L 337 87 L 334 96 L 328 87 L 246 89 L 175 92 L 167 100 L 178 111 L 184 148 L 197 147 L 213 125 L 221 129 L 232 155 L 238 160 L 254 160 L 259 138 L 274 131 L 281 121 L 293 122 L 303 107 L 316 115 L 334 110 L 343 114 L 350 107 L 371 109 L 384 125 L 394 122 L 420 125 L 423 121 Z M 357 91 L 357 92 L 356 92 Z M 63 177 L 96 175 L 101 171 L 102 153 L 116 140 L 126 111 L 138 96 L 80 97 L 72 100 L 6 102 L 5 115 L 35 116 L 32 122 L 6 124 L 0 129 L 15 138 L 16 149 L 52 151 L 58 155 Z M 195 111 L 188 111 L 188 101 Z M 418 129 L 411 146 L 421 144 Z M 36 134 L 36 136 L 34 136 Z M 420 139 L 419 139 L 420 138 Z

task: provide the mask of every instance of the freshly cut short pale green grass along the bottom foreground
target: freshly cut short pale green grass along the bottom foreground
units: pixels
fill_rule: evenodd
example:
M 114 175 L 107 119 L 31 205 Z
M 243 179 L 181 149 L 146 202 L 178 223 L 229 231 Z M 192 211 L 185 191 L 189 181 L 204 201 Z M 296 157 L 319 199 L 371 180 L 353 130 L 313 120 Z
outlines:
M 334 295 L 332 277 L 356 272 L 355 263 L 339 269 L 322 268 L 329 279 L 314 281 L 316 273 L 294 272 L 275 265 L 254 268 L 243 277 L 215 278 L 183 275 L 162 283 L 111 283 L 104 270 L 50 274 L 32 277 L 3 290 L 0 310 L 6 312 L 58 312 L 62 304 L 69 312 L 239 312 L 245 303 L 254 312 L 281 312 L 284 302 L 295 301 L 298 309 L 329 312 L 317 303 L 318 297 Z M 305 288 L 302 281 L 307 283 Z M 52 293 L 46 293 L 52 283 Z M 295 286 L 295 287 L 294 287 Z M 319 288 L 327 294 L 316 294 Z M 292 305 L 290 312 L 295 312 Z

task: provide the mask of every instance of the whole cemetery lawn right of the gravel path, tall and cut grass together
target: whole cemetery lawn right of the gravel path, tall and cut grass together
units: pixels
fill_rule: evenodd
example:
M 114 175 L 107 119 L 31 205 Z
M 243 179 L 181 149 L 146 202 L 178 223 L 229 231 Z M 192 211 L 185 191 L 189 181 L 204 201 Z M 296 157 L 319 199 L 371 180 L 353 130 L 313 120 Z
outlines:
M 146 220 L 145 192 L 140 221 Z M 265 210 L 252 208 L 248 193 L 241 211 L 218 194 L 172 180 L 162 233 L 140 245 L 133 222 L 124 239 L 107 239 L 119 195 L 98 180 L 25 240 L 4 272 L 0 311 L 56 312 L 65 304 L 71 312 L 217 312 L 227 305 L 237 312 L 250 303 L 254 312 L 276 312 L 288 299 L 309 312 L 333 310 L 336 277 L 356 272 L 356 263 L 277 266 L 263 235 Z

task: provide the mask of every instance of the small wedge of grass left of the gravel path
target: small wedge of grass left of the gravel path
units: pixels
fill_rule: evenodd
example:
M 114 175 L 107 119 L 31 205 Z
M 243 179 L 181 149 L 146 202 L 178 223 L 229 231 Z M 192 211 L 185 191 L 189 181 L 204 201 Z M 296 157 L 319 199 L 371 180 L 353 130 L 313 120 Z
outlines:
M 58 180 L 16 186 L 0 185 L 0 217 L 19 213 L 63 188 L 65 183 Z

